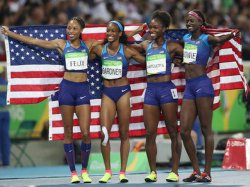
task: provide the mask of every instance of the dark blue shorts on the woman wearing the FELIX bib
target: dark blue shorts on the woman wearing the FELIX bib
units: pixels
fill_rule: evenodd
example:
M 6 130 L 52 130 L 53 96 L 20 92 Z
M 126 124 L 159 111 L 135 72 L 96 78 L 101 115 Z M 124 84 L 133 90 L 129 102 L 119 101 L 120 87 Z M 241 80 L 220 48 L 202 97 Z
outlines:
M 71 82 L 63 79 L 58 93 L 59 105 L 85 105 L 90 104 L 88 82 Z

